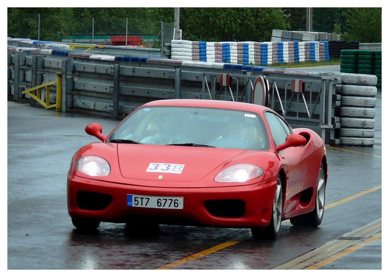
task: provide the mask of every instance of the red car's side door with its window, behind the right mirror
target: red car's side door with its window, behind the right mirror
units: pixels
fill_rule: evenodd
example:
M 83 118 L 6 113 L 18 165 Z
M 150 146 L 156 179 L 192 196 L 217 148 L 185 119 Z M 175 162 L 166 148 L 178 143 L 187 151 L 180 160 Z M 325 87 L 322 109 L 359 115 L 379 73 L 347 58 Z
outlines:
M 275 146 L 284 143 L 286 137 L 293 133 L 292 128 L 279 115 L 270 111 L 264 114 Z M 304 189 L 307 159 L 303 146 L 289 147 L 277 154 L 284 165 L 287 176 L 287 189 L 284 202 L 284 213 L 286 214 L 296 208 L 297 201 L 293 196 Z

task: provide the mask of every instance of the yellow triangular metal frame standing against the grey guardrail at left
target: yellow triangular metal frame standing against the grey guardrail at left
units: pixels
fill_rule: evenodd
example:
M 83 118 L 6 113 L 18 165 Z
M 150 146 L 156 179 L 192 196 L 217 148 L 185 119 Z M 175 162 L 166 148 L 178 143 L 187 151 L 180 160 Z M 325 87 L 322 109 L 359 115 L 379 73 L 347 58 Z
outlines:
M 45 84 L 41 84 L 39 86 L 26 89 L 25 91 L 22 92 L 22 94 L 27 93 L 30 95 L 35 101 L 38 101 L 43 107 L 46 109 L 50 108 L 56 108 L 55 110 L 59 112 L 61 110 L 61 102 L 62 102 L 62 74 L 61 73 L 56 73 L 57 74 L 57 81 L 53 82 L 48 82 Z M 50 86 L 53 84 L 57 84 L 57 97 L 56 97 L 56 103 L 50 105 Z M 41 88 L 46 87 L 46 102 L 42 101 L 41 98 Z M 33 91 L 37 91 L 37 95 L 33 94 Z

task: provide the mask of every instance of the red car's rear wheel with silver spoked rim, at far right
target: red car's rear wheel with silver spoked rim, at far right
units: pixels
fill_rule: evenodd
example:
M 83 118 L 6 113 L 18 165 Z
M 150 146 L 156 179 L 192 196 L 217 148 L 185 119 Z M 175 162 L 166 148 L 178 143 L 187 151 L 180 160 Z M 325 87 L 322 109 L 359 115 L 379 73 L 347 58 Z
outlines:
M 326 177 L 323 164 L 319 168 L 315 195 L 315 209 L 307 214 L 290 218 L 289 220 L 293 226 L 317 227 L 323 220 L 326 200 Z

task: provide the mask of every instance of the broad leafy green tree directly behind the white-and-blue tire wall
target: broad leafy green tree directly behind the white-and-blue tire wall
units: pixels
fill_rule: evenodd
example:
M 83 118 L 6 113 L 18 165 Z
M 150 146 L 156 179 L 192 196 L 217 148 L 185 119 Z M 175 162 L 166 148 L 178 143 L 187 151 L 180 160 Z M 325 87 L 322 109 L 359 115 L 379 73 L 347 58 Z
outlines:
M 273 29 L 287 29 L 280 8 L 181 8 L 184 39 L 203 41 L 265 41 Z

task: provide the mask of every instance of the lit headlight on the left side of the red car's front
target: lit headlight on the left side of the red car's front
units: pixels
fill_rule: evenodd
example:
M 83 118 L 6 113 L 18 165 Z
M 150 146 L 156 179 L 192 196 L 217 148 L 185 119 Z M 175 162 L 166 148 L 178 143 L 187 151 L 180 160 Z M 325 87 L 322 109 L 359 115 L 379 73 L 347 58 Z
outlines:
M 75 169 L 89 176 L 107 176 L 111 171 L 109 163 L 99 156 L 83 156 L 74 166 Z

